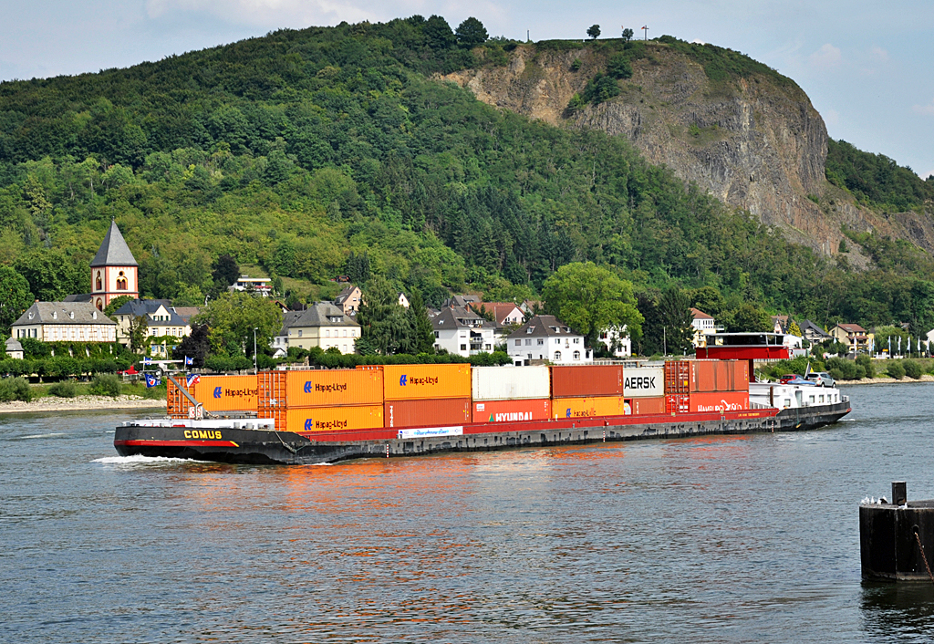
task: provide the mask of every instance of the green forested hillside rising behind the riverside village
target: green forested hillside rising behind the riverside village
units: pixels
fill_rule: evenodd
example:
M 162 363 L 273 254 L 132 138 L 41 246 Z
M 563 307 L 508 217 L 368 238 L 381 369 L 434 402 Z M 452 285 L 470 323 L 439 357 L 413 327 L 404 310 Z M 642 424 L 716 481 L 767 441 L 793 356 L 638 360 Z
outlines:
M 83 293 L 116 218 L 144 293 L 186 304 L 224 253 L 292 297 L 332 295 L 349 267 L 435 304 L 531 295 L 593 261 L 640 289 L 714 286 L 724 306 L 934 323 L 926 254 L 867 237 L 884 267 L 853 274 L 620 137 L 488 107 L 432 76 L 505 64 L 516 43 L 460 36 L 438 17 L 341 24 L 2 83 L 0 263 L 36 297 Z

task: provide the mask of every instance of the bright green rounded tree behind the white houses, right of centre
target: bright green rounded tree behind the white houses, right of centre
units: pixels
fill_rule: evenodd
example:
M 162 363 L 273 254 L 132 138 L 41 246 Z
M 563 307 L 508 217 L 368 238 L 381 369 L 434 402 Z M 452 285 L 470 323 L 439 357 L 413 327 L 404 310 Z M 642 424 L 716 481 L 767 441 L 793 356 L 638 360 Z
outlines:
M 542 294 L 545 310 L 587 336 L 588 346 L 613 324 L 625 324 L 630 336 L 642 334 L 643 316 L 635 306 L 632 284 L 592 262 L 561 266 L 545 279 Z

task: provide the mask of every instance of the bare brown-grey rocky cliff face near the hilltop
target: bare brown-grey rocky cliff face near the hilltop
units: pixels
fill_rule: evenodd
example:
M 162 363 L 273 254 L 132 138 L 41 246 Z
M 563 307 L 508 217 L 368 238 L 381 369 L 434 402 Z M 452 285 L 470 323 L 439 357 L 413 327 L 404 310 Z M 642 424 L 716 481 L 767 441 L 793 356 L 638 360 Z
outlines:
M 523 45 L 505 66 L 444 77 L 489 105 L 555 125 L 626 136 L 653 164 L 664 164 L 729 205 L 777 226 L 794 241 L 836 253 L 846 224 L 912 239 L 934 250 L 929 217 L 885 218 L 857 208 L 825 178 L 827 127 L 807 95 L 774 74 L 712 81 L 703 66 L 661 43 L 644 45 L 620 93 L 600 105 L 568 106 L 606 69 L 610 51 Z M 859 263 L 858 257 L 851 258 Z

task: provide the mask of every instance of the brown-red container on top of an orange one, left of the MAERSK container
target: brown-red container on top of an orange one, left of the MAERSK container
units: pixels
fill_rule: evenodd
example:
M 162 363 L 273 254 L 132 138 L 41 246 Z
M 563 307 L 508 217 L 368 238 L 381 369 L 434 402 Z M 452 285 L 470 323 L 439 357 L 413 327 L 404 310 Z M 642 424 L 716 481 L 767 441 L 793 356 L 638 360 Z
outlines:
M 621 365 L 553 366 L 552 416 L 594 418 L 629 415 L 631 408 L 623 395 L 624 385 Z

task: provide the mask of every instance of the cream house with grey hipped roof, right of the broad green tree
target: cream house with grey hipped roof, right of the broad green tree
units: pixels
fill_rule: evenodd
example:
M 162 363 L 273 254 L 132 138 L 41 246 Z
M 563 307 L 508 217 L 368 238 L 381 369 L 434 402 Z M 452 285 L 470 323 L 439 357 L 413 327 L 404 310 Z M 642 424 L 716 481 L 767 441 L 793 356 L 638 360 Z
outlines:
M 293 316 L 291 313 L 300 315 Z M 287 322 L 283 322 L 279 336 L 273 338 L 273 349 L 282 346 L 276 346 L 276 338 L 285 336 L 285 351 L 289 351 L 290 347 L 305 350 L 320 347 L 323 351 L 336 347 L 341 353 L 353 353 L 361 335 L 360 324 L 331 302 L 316 302 L 308 305 L 304 311 L 290 311 L 285 321 L 290 325 L 286 328 Z

